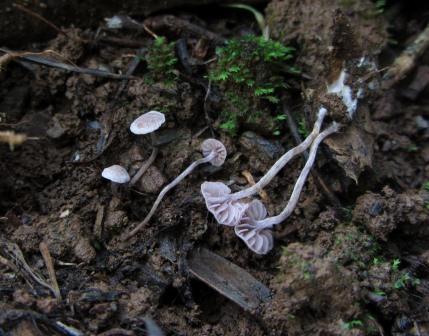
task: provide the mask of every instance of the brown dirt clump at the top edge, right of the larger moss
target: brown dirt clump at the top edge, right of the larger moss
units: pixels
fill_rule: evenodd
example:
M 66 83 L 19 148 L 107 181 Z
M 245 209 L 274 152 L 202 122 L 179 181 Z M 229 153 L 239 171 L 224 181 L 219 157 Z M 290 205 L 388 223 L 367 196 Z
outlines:
M 272 37 L 299 46 L 297 63 L 316 81 L 327 74 L 335 33 L 332 18 L 337 11 L 350 20 L 356 43 L 366 55 L 379 53 L 387 42 L 387 22 L 379 15 L 374 2 L 365 1 L 271 1 L 266 8 Z M 350 45 L 350 49 L 352 46 Z M 365 56 L 365 55 L 361 55 Z

